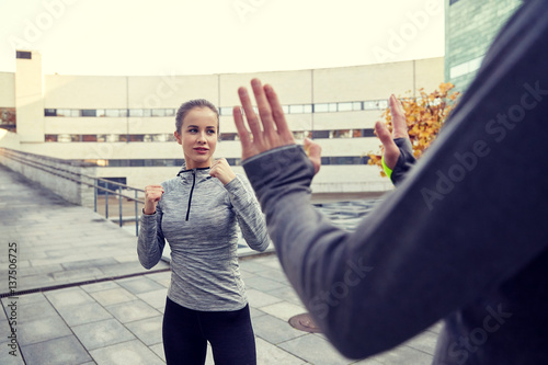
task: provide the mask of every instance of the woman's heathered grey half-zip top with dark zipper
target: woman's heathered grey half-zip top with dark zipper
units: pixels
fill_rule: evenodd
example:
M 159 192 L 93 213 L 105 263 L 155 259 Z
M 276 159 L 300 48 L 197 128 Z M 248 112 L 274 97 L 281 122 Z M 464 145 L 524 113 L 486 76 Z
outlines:
M 142 215 L 137 244 L 139 261 L 151 269 L 171 248 L 168 297 L 194 310 L 243 308 L 248 300 L 238 264 L 239 229 L 247 243 L 264 251 L 270 243 L 264 216 L 248 181 L 237 174 L 226 185 L 209 168 L 185 170 L 161 183 L 164 190 L 153 215 Z

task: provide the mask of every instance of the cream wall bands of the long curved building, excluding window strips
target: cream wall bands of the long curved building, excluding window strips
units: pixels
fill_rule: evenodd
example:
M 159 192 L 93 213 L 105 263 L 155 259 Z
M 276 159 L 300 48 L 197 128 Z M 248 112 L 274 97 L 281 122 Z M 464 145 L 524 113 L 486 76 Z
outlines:
M 283 105 L 336 102 L 386 101 L 391 93 L 418 94 L 420 88 L 431 91 L 439 85 L 444 76 L 443 58 L 403 61 L 384 65 L 355 66 L 332 69 L 276 71 L 256 73 L 227 73 L 208 76 L 150 76 L 150 77 L 91 77 L 45 76 L 43 109 L 67 110 L 136 110 L 173 109 L 190 99 L 207 99 L 229 111 L 239 104 L 238 88 L 250 90 L 250 80 L 259 78 L 271 83 Z M 36 78 L 34 75 L 32 78 Z M 31 78 L 31 77 L 30 77 Z M 32 79 L 31 78 L 31 79 Z M 14 76 L 0 73 L 0 106 L 14 103 Z M 28 80 L 32 82 L 32 80 Z M 251 92 L 251 90 L 250 90 Z M 380 119 L 381 110 L 286 114 L 292 130 L 334 130 L 373 128 Z M 18 111 L 19 113 L 19 111 Z M 42 115 L 44 112 L 42 110 Z M 171 135 L 174 116 L 165 117 L 60 117 L 46 116 L 45 135 Z M 19 114 L 18 114 L 19 123 Z M 220 133 L 236 133 L 230 115 L 220 116 Z M 109 138 L 109 137 L 107 137 Z M 24 138 L 22 138 L 24 139 Z M 301 142 L 301 140 L 298 140 Z M 376 137 L 318 138 L 324 157 L 365 156 L 378 152 Z M 112 159 L 181 159 L 182 148 L 175 141 L 167 142 L 35 142 L 22 144 L 23 151 L 55 158 L 78 160 Z M 238 140 L 221 140 L 216 157 L 240 158 Z M 99 161 L 101 162 L 101 161 Z M 241 167 L 235 171 L 243 173 Z M 126 178 L 127 184 L 144 187 L 159 183 L 178 172 L 178 167 L 98 168 L 103 178 Z M 376 167 L 323 166 L 315 178 L 315 192 L 386 191 L 391 184 L 380 178 Z

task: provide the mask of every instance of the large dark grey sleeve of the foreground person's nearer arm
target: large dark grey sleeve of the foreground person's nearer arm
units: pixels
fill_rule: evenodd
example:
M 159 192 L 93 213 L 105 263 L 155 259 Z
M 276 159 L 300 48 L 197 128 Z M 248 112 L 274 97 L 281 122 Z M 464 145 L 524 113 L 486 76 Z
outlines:
M 547 16 L 548 2 L 525 3 L 436 142 L 354 232 L 311 207 L 301 147 L 243 161 L 289 282 L 344 355 L 393 347 L 547 249 Z

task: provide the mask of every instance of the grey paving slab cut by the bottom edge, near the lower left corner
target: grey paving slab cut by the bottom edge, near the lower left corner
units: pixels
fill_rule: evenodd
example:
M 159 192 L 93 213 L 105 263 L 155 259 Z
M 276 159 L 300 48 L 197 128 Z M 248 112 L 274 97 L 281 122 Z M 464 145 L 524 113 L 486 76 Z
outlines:
M 23 346 L 26 365 L 82 364 L 91 356 L 75 335 Z

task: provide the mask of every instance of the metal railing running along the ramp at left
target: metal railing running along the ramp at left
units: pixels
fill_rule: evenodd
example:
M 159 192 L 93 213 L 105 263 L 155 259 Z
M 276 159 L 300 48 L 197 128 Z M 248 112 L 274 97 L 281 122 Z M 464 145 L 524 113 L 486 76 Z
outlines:
M 138 213 L 138 204 L 145 204 L 144 199 L 139 199 L 138 194 L 139 193 L 145 193 L 144 190 L 141 189 L 136 189 L 126 184 L 117 183 L 107 179 L 102 179 L 98 176 L 91 176 L 89 174 L 84 174 L 81 172 L 75 172 L 70 171 L 68 169 L 62 169 L 59 167 L 50 166 L 50 164 L 45 164 L 37 162 L 38 159 L 43 159 L 46 161 L 50 161 L 53 163 L 62 163 L 67 164 L 73 168 L 87 168 L 87 167 L 96 167 L 95 164 L 88 163 L 88 162 L 81 162 L 81 161 L 69 161 L 69 160 L 62 160 L 62 159 L 56 159 L 56 158 L 50 158 L 42 155 L 34 155 L 34 153 L 27 153 L 27 152 L 21 152 L 21 151 L 15 151 L 7 148 L 0 148 L 0 155 L 2 155 L 5 158 L 9 158 L 13 161 L 16 161 L 19 163 L 28 166 L 31 168 L 47 172 L 52 175 L 66 179 L 69 181 L 72 181 L 77 184 L 85 185 L 85 186 L 93 186 L 93 208 L 94 212 L 98 212 L 98 197 L 99 197 L 99 192 L 102 191 L 104 192 L 105 195 L 105 218 L 109 219 L 109 195 L 115 195 L 118 197 L 118 224 L 119 227 L 124 225 L 124 218 L 123 218 L 123 208 L 122 208 L 122 201 L 123 198 L 126 198 L 129 202 L 135 202 L 135 235 L 139 235 L 139 213 Z M 87 180 L 87 181 L 85 181 Z M 100 186 L 100 182 L 102 182 L 105 186 Z M 109 189 L 111 185 L 115 185 L 116 189 L 112 190 Z M 134 192 L 134 196 L 128 196 L 122 193 L 123 190 Z M 111 219 L 114 220 L 114 219 Z

